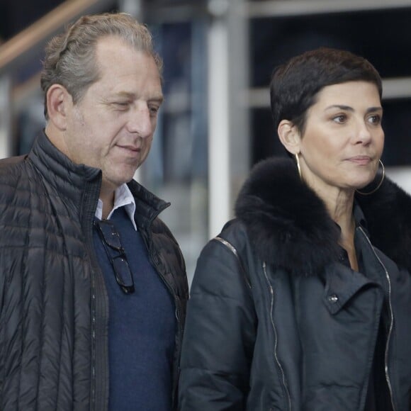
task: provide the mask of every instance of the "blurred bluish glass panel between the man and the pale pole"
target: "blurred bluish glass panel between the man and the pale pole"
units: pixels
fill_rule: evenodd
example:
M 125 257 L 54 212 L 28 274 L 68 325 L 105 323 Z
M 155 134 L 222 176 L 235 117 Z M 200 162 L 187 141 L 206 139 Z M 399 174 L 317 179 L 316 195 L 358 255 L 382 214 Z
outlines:
M 202 20 L 151 27 L 164 60 L 164 106 L 142 184 L 171 202 L 161 218 L 184 253 L 189 281 L 208 240 L 206 24 Z

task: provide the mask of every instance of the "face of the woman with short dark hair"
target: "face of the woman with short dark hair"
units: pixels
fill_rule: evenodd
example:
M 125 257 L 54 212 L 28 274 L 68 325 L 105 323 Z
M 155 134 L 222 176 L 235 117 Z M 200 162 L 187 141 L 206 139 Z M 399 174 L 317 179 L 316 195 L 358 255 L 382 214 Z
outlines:
M 300 137 L 305 181 L 320 191 L 330 186 L 354 191 L 370 183 L 383 152 L 382 115 L 378 89 L 370 82 L 324 87 Z

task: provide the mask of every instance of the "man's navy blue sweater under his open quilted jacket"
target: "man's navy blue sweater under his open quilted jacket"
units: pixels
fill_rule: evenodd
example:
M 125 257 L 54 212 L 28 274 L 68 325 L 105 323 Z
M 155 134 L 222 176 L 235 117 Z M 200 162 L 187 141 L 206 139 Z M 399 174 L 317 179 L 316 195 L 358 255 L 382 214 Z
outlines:
M 111 222 L 120 233 L 135 293 L 121 291 L 94 228 L 94 247 L 109 300 L 108 353 L 111 411 L 171 410 L 171 365 L 176 318 L 174 302 L 154 270 L 139 232 L 119 208 Z

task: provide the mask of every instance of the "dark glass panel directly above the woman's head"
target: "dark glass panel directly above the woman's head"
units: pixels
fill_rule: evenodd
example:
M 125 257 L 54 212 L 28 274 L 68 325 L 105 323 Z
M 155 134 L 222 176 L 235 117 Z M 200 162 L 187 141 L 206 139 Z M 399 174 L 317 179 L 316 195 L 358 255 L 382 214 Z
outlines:
M 252 87 L 269 84 L 289 57 L 320 46 L 362 55 L 382 77 L 411 76 L 411 8 L 254 18 L 250 21 Z M 387 34 L 389 33 L 389 35 Z

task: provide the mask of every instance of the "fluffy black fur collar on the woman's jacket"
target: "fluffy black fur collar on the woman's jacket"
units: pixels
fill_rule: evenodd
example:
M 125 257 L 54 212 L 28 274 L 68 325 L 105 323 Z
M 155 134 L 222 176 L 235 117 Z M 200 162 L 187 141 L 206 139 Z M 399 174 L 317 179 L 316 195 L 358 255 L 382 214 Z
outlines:
M 393 182 L 359 196 L 371 242 L 411 271 L 411 198 Z M 259 162 L 235 205 L 260 259 L 297 275 L 317 275 L 339 258 L 339 227 L 300 181 L 293 160 Z

